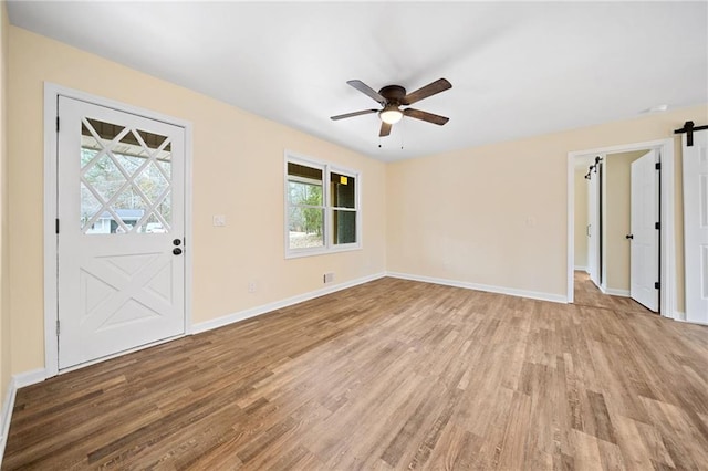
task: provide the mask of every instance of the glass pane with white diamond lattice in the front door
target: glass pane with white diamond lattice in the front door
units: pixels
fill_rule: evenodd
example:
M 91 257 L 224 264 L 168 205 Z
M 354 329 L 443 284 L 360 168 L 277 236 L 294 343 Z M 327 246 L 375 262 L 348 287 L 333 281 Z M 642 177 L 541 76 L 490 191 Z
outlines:
M 84 233 L 169 231 L 171 144 L 166 136 L 84 118 L 81 168 Z

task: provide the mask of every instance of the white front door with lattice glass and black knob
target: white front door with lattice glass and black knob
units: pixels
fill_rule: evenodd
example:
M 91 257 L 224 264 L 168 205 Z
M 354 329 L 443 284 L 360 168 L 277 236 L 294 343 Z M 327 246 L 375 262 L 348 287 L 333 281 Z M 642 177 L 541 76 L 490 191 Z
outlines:
M 58 106 L 62 369 L 185 333 L 185 130 Z

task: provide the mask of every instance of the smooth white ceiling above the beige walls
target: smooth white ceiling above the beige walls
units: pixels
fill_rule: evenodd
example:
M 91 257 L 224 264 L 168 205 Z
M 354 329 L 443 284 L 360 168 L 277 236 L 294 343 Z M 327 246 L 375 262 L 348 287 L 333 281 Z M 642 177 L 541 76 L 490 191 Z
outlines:
M 9 1 L 8 12 L 385 161 L 708 103 L 705 1 Z M 329 118 L 377 107 L 347 80 L 410 92 L 440 77 L 452 88 L 414 107 L 448 116 L 445 126 L 406 117 L 379 139 L 375 114 Z

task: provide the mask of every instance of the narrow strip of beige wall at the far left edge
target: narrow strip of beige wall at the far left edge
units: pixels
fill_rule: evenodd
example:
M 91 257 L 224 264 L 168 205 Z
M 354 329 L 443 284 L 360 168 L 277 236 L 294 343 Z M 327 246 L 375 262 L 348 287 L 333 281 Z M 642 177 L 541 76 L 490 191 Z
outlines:
M 10 384 L 10 259 L 8 238 L 8 10 L 0 2 L 0 404 Z

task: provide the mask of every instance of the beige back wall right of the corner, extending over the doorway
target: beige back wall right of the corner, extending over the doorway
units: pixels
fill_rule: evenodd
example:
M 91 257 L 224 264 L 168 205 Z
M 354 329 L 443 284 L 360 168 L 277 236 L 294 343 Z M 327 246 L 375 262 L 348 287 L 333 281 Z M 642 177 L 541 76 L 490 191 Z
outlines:
M 708 106 L 391 164 L 387 269 L 564 299 L 568 153 L 670 138 L 688 119 Z

